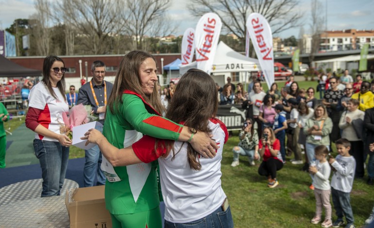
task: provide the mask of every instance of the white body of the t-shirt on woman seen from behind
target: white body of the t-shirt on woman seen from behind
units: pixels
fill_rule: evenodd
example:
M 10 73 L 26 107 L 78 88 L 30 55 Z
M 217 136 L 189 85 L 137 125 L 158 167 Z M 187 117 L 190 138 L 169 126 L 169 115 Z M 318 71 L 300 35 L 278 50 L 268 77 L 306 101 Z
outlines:
M 227 131 L 221 129 L 221 121 L 215 121 L 209 122 L 209 128 L 219 148 L 213 159 L 200 157 L 201 170 L 189 167 L 187 144 L 180 141 L 174 143 L 176 155 L 173 160 L 172 151 L 168 157 L 158 159 L 165 219 L 169 222 L 201 219 L 217 210 L 226 198 L 221 188 L 221 160 Z

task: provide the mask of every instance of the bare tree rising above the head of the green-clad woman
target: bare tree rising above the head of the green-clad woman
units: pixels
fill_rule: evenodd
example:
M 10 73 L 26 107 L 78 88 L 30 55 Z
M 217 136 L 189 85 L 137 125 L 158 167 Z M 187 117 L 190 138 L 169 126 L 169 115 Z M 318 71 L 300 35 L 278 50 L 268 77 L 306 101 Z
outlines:
M 126 33 L 135 39 L 135 48 L 143 49 L 143 39 L 146 34 L 153 36 L 157 33 L 170 31 L 170 21 L 166 17 L 166 10 L 170 0 L 125 0 L 125 7 L 121 13 L 121 21 Z M 172 30 L 172 29 L 171 29 Z

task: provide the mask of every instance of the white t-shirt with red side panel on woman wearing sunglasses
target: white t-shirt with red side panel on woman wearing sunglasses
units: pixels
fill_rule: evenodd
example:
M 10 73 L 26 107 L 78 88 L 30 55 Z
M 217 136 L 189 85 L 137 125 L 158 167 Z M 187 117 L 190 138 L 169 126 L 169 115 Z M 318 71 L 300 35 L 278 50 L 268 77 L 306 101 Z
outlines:
M 38 117 L 38 123 L 48 130 L 60 134 L 60 123 L 64 123 L 62 113 L 69 112 L 69 105 L 57 87 L 52 87 L 52 89 L 58 99 L 52 97 L 42 81 L 37 83 L 30 91 L 29 107 L 42 110 Z M 35 133 L 35 139 L 58 142 L 56 139 L 38 133 Z

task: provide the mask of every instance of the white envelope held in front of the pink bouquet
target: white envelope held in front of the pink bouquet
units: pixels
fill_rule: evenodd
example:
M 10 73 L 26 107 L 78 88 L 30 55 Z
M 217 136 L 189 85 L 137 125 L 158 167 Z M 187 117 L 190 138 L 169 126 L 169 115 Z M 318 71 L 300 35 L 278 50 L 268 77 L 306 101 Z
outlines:
M 92 147 L 95 147 L 96 144 L 93 144 L 93 143 L 89 143 L 87 146 L 85 146 L 85 143 L 86 143 L 86 139 L 85 140 L 82 140 L 81 137 L 85 136 L 85 132 L 87 132 L 88 130 L 90 129 L 96 129 L 96 130 L 100 130 L 100 132 L 102 132 L 102 124 L 98 121 L 94 121 L 94 122 L 89 122 L 89 123 L 86 123 L 86 124 L 82 124 L 82 125 L 79 125 L 79 126 L 76 126 L 73 128 L 73 143 L 72 145 L 75 146 L 75 147 L 79 147 L 81 149 L 90 149 Z

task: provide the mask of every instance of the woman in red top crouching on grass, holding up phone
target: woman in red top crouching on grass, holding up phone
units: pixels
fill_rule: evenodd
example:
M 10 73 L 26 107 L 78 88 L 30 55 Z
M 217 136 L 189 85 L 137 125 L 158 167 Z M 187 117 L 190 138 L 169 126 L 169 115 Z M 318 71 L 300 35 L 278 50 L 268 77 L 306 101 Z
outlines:
M 262 135 L 258 148 L 263 161 L 258 168 L 258 174 L 268 177 L 268 187 L 274 188 L 279 184 L 276 171 L 283 167 L 280 142 L 275 138 L 274 131 L 270 127 L 264 128 Z

